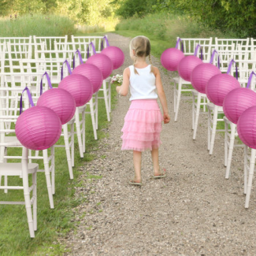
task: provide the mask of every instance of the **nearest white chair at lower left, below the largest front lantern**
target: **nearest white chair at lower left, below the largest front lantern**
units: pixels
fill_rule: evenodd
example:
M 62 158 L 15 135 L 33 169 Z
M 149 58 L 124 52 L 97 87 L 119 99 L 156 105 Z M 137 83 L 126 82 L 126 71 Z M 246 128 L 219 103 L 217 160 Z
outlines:
M 1 119 L 1 116 L 0 116 Z M 0 121 L 2 124 L 2 121 Z M 5 132 L 5 129 L 0 129 L 1 132 Z M 22 158 L 20 163 L 0 163 L 0 189 L 8 190 L 23 190 L 24 202 L 13 201 L 0 201 L 0 204 L 6 205 L 25 205 L 28 228 L 30 236 L 35 237 L 35 231 L 37 230 L 37 195 L 36 195 L 36 172 L 38 170 L 37 164 L 28 164 L 28 149 L 23 147 Z M 32 174 L 32 185 L 29 186 L 28 174 Z M 1 185 L 1 176 L 17 176 L 22 179 L 22 186 L 18 185 Z M 32 196 L 30 193 L 32 192 Z

